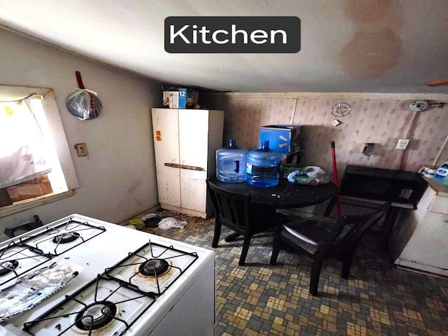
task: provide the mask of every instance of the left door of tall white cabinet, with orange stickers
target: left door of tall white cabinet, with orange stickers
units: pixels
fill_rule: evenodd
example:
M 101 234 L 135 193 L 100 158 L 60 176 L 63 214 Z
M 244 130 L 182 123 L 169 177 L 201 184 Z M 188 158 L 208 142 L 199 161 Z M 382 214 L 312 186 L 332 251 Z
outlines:
M 178 110 L 152 109 L 152 115 L 159 202 L 181 207 L 180 169 L 165 166 L 179 164 Z

